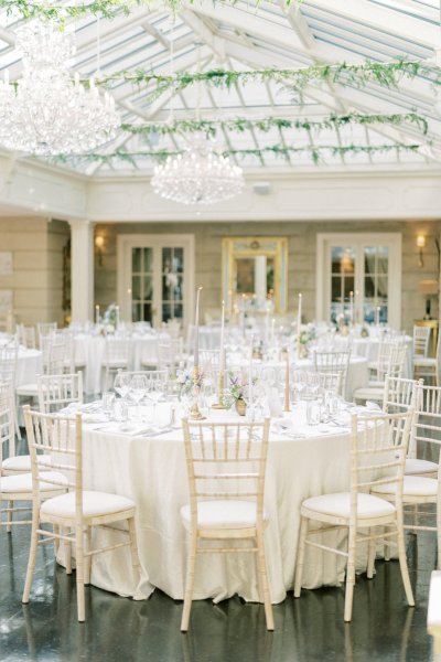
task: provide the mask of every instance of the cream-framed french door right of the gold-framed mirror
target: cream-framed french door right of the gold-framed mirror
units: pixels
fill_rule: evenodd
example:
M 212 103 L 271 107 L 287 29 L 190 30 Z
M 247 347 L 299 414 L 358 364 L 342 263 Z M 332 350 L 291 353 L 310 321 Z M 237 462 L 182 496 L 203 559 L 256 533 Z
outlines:
M 318 235 L 319 320 L 401 325 L 401 235 Z

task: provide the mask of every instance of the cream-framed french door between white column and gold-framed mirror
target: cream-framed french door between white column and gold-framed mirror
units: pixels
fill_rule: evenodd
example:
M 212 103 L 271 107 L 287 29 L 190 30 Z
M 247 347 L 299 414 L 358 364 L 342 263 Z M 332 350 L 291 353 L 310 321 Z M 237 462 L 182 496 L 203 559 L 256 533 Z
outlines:
M 118 302 L 123 319 L 187 324 L 194 290 L 193 235 L 119 235 Z

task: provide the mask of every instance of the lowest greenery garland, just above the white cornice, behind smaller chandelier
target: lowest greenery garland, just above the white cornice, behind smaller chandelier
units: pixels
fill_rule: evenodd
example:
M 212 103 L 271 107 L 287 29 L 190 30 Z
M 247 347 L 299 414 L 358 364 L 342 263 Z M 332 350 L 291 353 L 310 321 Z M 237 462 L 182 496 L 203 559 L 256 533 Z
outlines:
M 346 146 L 332 146 L 332 145 L 320 145 L 320 146 L 303 146 L 303 147 L 293 147 L 286 145 L 272 145 L 268 147 L 251 148 L 251 149 L 226 149 L 222 152 L 224 157 L 256 157 L 258 159 L 265 157 L 266 154 L 275 154 L 277 157 L 289 157 L 290 154 L 299 154 L 308 152 L 313 161 L 313 163 L 318 164 L 320 162 L 320 156 L 323 151 L 330 152 L 333 157 L 336 156 L 345 156 L 348 153 L 352 154 L 375 154 L 375 153 L 387 153 L 391 151 L 396 151 L 397 153 L 400 151 L 411 151 L 418 152 L 421 148 L 421 145 L 406 145 L 404 142 L 395 142 L 391 145 L 346 145 Z M 111 153 L 99 153 L 99 152 L 89 152 L 84 154 L 60 154 L 55 157 L 53 161 L 57 163 L 68 163 L 71 161 L 76 161 L 78 159 L 85 161 L 97 161 L 101 163 L 110 163 L 112 160 L 121 160 L 136 166 L 137 159 L 152 159 L 154 161 L 164 161 L 168 157 L 178 157 L 182 154 L 183 150 L 146 150 L 138 152 L 128 152 L 122 149 L 118 149 Z

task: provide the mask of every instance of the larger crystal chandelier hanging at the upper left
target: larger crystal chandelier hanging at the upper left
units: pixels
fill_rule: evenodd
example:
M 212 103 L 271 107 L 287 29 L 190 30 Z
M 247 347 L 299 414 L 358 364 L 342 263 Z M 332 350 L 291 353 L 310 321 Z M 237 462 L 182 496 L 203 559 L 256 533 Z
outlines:
M 72 40 L 56 25 L 35 21 L 17 33 L 23 74 L 0 82 L 0 145 L 33 154 L 75 153 L 115 138 L 120 120 L 114 99 L 90 79 L 71 79 Z

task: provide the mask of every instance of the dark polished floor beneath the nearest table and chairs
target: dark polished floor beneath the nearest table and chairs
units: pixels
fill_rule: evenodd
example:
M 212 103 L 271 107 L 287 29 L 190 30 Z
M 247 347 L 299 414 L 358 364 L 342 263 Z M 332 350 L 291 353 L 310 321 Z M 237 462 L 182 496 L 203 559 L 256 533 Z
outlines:
M 39 552 L 31 602 L 21 604 L 28 559 L 26 526 L 0 531 L 0 660 L 51 662 L 426 662 L 430 573 L 435 545 L 430 534 L 408 537 L 417 607 L 406 605 L 397 562 L 377 562 L 374 580 L 357 579 L 354 617 L 343 622 L 343 589 L 304 590 L 275 607 L 276 631 L 266 632 L 260 605 L 239 598 L 214 606 L 196 601 L 192 629 L 180 633 L 182 604 L 157 591 L 132 601 L 86 589 L 87 621 L 76 620 L 75 575 Z

